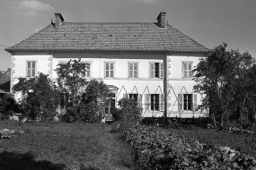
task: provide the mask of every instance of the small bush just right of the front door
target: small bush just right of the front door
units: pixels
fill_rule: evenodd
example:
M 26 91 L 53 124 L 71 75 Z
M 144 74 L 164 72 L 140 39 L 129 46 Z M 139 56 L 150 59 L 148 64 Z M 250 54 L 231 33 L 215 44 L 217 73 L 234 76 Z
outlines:
M 119 99 L 118 105 L 121 109 L 121 121 L 124 129 L 140 121 L 143 108 L 136 100 L 133 98 L 121 98 Z

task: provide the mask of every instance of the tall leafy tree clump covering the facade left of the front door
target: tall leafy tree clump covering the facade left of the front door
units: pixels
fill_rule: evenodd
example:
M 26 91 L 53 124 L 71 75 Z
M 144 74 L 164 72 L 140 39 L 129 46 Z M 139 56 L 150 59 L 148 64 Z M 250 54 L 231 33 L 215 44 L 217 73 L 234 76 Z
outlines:
M 57 83 L 60 91 L 66 94 L 66 122 L 97 123 L 102 120 L 104 108 L 110 93 L 103 81 L 87 81 L 88 64 L 81 59 L 58 64 Z

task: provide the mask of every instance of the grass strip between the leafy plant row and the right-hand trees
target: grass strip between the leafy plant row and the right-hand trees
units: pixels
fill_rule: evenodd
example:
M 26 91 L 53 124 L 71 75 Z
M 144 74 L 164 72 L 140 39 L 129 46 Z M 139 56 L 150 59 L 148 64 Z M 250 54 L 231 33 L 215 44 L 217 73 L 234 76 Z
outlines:
M 228 132 L 218 132 L 193 126 L 183 126 L 176 128 L 162 129 L 183 135 L 186 138 L 199 140 L 207 145 L 227 146 L 236 149 L 243 154 L 256 158 L 256 134 L 237 134 Z

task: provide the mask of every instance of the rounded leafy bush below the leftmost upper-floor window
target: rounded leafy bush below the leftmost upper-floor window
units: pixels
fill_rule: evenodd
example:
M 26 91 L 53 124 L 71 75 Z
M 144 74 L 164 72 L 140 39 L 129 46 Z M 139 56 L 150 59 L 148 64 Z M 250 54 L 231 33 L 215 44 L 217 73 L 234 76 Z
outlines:
M 19 82 L 13 86 L 13 91 L 21 92 L 24 96 L 21 100 L 22 111 L 32 121 L 37 117 L 40 117 L 41 121 L 48 121 L 55 115 L 58 92 L 48 74 L 40 72 L 31 79 L 19 78 Z

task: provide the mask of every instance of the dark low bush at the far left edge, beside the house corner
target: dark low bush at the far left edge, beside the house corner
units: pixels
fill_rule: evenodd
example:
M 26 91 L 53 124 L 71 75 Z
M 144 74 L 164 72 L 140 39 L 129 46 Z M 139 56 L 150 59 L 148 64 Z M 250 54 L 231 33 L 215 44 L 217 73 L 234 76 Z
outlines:
M 19 104 L 14 100 L 11 95 L 4 95 L 3 98 L 0 98 L 0 119 L 8 119 L 9 115 L 13 113 L 18 113 L 20 111 Z

